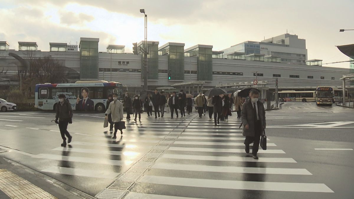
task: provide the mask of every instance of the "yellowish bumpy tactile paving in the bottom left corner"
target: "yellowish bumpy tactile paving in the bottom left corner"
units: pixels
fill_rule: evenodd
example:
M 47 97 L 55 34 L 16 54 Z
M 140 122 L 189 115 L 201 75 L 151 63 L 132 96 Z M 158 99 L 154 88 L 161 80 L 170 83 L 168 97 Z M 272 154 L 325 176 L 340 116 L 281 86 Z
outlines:
M 0 189 L 10 198 L 56 198 L 7 169 L 0 169 Z

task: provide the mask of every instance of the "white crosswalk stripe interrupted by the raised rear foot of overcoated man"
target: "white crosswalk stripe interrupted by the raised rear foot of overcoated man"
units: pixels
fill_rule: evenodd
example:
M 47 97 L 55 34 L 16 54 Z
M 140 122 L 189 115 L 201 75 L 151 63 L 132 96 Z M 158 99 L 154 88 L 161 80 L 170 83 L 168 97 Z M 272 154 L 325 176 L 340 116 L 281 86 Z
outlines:
M 198 151 L 198 152 L 245 153 L 245 149 L 170 147 L 168 150 L 193 151 L 193 152 Z M 252 149 L 250 149 L 250 151 L 252 151 Z M 285 152 L 279 149 L 267 149 L 267 150 L 259 150 L 258 153 L 285 153 Z

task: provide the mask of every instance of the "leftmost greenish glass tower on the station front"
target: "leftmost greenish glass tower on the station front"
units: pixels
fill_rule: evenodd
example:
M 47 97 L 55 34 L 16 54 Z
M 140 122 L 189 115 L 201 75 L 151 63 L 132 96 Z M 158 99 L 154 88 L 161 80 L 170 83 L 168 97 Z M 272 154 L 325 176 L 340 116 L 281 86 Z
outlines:
M 98 80 L 98 39 L 80 41 L 80 79 Z

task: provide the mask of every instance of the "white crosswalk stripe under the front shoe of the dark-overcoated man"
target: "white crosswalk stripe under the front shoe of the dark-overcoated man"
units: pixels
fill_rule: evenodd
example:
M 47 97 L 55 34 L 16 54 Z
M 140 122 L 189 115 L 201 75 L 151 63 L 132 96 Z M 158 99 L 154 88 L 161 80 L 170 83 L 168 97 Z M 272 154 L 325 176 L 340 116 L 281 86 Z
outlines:
M 252 157 L 238 157 L 238 156 L 163 154 L 161 156 L 161 158 L 185 159 L 185 160 L 236 161 L 236 162 L 297 163 L 292 158 L 263 158 L 263 157 L 259 157 L 258 160 L 255 160 Z

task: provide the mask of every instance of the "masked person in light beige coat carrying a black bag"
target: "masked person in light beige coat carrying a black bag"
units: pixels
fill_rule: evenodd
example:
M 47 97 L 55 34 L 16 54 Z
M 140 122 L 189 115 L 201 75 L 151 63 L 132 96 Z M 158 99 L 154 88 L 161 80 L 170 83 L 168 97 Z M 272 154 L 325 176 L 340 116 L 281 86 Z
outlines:
M 118 101 L 118 95 L 116 93 L 113 93 L 113 101 L 109 103 L 109 107 L 105 113 L 106 119 L 108 118 L 108 114 L 112 115 L 112 121 L 114 123 L 113 139 L 116 139 L 118 129 L 120 130 L 120 134 L 123 135 L 122 128 L 119 126 L 119 122 L 123 119 L 123 103 Z

